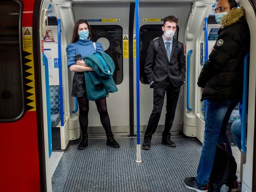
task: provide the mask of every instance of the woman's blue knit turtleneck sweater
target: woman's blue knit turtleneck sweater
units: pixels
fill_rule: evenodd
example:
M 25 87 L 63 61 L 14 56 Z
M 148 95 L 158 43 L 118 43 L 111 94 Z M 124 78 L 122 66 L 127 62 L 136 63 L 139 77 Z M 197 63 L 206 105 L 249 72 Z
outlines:
M 71 65 L 75 65 L 75 55 L 81 54 L 82 58 L 85 58 L 86 56 L 92 55 L 96 51 L 104 51 L 102 48 L 101 43 L 96 43 L 96 51 L 93 46 L 93 42 L 90 38 L 86 40 L 78 40 L 75 43 L 69 43 L 69 45 L 66 48 L 67 50 L 67 67 L 70 67 Z

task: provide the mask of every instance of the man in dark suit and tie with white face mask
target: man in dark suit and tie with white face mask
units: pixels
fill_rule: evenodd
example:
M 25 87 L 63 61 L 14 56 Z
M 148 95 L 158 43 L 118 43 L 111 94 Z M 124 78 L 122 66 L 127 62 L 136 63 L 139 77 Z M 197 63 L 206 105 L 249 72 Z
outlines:
M 162 144 L 175 147 L 170 140 L 170 129 L 174 120 L 175 110 L 178 103 L 179 91 L 184 84 L 186 73 L 186 61 L 183 43 L 173 38 L 177 29 L 178 19 L 174 16 L 164 18 L 162 30 L 164 34 L 150 41 L 146 62 L 145 73 L 148 82 L 154 88 L 153 111 L 149 117 L 148 127 L 144 135 L 142 149 L 150 149 L 152 134 L 155 133 L 161 116 L 166 92 L 166 116 Z

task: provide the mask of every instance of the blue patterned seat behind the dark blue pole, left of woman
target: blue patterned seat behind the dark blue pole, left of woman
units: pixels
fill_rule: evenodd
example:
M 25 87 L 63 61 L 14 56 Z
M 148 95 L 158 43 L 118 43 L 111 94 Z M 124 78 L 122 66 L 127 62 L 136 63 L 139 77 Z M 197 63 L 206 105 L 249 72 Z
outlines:
M 52 127 L 60 122 L 60 89 L 58 85 L 50 86 L 50 120 Z

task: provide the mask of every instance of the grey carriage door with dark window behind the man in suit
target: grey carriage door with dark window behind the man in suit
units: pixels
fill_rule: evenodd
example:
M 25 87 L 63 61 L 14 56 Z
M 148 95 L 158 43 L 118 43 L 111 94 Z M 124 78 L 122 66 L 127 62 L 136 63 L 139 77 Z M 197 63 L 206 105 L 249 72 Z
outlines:
M 139 11 L 139 25 L 140 25 L 140 130 L 142 134 L 146 131 L 149 116 L 153 110 L 153 89 L 149 88 L 147 77 L 144 73 L 144 65 L 146 52 L 149 41 L 163 35 L 161 27 L 163 26 L 163 18 L 168 15 L 174 15 L 178 19 L 178 29 L 174 38 L 181 43 L 184 43 L 184 34 L 191 12 L 191 2 L 158 2 L 158 3 L 140 3 Z M 134 27 L 135 33 L 135 27 Z M 134 63 L 136 61 L 134 60 Z M 136 72 L 136 70 L 135 70 Z M 136 81 L 136 73 L 134 73 L 134 80 Z M 181 133 L 183 131 L 183 88 L 179 94 L 179 100 L 176 108 L 176 114 L 171 129 L 172 133 Z M 135 88 L 136 93 L 136 88 Z M 135 94 L 136 95 L 136 94 Z M 136 99 L 135 99 L 136 101 Z M 135 105 L 136 109 L 136 105 Z M 136 112 L 136 110 L 135 110 Z M 164 129 L 164 120 L 166 113 L 166 97 L 164 99 L 164 106 L 161 113 L 161 118 L 158 123 L 156 134 L 162 134 Z M 135 116 L 136 122 L 136 116 Z M 136 127 L 136 126 L 135 126 Z M 135 129 L 136 132 L 136 129 Z

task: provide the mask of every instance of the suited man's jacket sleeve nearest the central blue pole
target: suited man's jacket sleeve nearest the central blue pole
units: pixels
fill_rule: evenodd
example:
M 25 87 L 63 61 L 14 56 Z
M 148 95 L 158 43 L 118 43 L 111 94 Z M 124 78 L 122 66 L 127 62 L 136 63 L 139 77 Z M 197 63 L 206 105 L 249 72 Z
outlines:
M 146 61 L 145 61 L 145 74 L 148 77 L 149 84 L 154 80 L 153 78 L 153 63 L 154 63 L 154 41 L 150 41 L 147 50 Z

